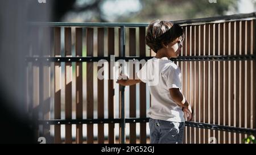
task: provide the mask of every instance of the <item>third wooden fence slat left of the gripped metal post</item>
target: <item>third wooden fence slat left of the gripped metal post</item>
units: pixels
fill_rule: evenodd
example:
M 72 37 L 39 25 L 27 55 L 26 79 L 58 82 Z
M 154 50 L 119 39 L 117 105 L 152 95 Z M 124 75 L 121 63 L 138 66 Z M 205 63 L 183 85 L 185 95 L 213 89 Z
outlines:
M 86 29 L 86 56 L 93 56 L 93 28 Z M 93 119 L 93 62 L 86 62 L 87 119 Z M 93 143 L 93 124 L 87 124 L 87 143 Z

